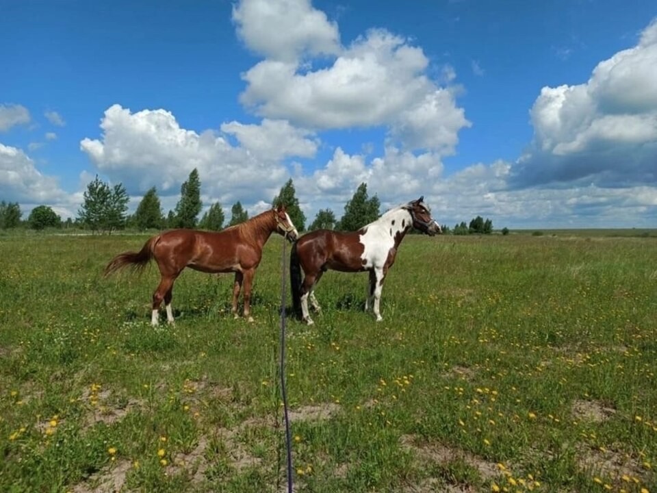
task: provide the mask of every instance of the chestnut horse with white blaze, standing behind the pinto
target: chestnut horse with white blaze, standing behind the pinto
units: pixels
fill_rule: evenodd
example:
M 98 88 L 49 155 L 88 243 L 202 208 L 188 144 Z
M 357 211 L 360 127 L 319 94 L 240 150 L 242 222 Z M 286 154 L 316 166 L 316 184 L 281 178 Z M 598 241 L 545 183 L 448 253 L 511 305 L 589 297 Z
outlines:
M 237 318 L 237 299 L 243 287 L 244 318 L 252 322 L 250 299 L 253 276 L 262 258 L 262 248 L 274 231 L 289 241 L 299 237 L 284 206 L 258 214 L 222 231 L 173 229 L 149 238 L 138 252 L 116 255 L 105 267 L 105 275 L 126 266 L 142 270 L 151 259 L 155 259 L 161 278 L 153 294 L 151 323 L 157 325 L 159 306 L 163 300 L 166 318 L 169 323 L 173 323 L 173 283 L 185 267 L 205 273 L 234 272 L 233 315 Z

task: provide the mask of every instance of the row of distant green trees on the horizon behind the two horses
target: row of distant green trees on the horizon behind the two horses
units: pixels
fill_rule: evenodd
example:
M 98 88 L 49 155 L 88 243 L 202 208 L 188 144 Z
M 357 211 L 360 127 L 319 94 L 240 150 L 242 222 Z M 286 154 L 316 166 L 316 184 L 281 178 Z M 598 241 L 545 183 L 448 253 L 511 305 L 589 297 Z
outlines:
M 233 203 L 230 218 L 219 202 L 209 205 L 201 219 L 198 220 L 203 202 L 201 201 L 201 178 L 194 168 L 188 179 L 181 185 L 180 199 L 173 210 L 164 214 L 157 188 L 150 188 L 142 197 L 133 214 L 127 214 L 129 196 L 123 184 L 110 185 L 97 175 L 88 184 L 77 217 L 68 218 L 62 222 L 49 205 L 39 205 L 29 214 L 27 221 L 21 221 L 21 208 L 18 203 L 0 203 L 0 229 L 10 229 L 27 226 L 33 229 L 47 227 L 78 227 L 94 233 L 111 234 L 119 229 L 172 229 L 200 228 L 218 231 L 224 227 L 243 223 L 248 219 L 248 211 L 240 201 Z M 321 209 L 314 220 L 306 228 L 306 216 L 302 212 L 296 197 L 292 179 L 289 179 L 278 195 L 272 200 L 275 207 L 285 204 L 287 214 L 299 231 L 313 229 L 337 229 L 341 231 L 356 231 L 376 220 L 381 215 L 381 202 L 376 194 L 368 195 L 368 186 L 361 183 L 350 200 L 344 206 L 344 214 L 339 220 L 331 209 Z M 492 229 L 489 220 L 486 222 Z

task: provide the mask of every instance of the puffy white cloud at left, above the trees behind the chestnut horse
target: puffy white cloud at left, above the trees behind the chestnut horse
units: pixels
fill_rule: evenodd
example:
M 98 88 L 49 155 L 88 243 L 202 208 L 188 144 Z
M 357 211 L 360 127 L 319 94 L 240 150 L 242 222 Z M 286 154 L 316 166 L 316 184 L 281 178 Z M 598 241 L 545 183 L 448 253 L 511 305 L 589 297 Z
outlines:
M 248 203 L 261 199 L 263 190 L 274 197 L 287 177 L 285 167 L 271 155 L 287 153 L 284 142 L 268 135 L 296 135 L 292 144 L 304 147 L 302 131 L 294 133 L 285 124 L 268 123 L 262 129 L 227 124 L 227 130 L 245 140 L 245 147 L 235 147 L 211 131 L 201 134 L 183 129 L 175 116 L 165 110 L 131 112 L 112 105 L 101 121 L 100 139 L 84 138 L 82 151 L 94 165 L 114 181 L 121 181 L 131 193 L 157 186 L 164 194 L 176 194 L 192 169 L 202 177 L 203 192 L 222 202 L 237 199 Z M 311 142 L 311 141 L 309 141 Z M 247 147 L 250 146 L 250 147 Z M 312 143 L 303 151 L 310 153 Z M 248 149 L 252 149 L 249 151 Z M 257 186 L 256 186 L 257 184 Z

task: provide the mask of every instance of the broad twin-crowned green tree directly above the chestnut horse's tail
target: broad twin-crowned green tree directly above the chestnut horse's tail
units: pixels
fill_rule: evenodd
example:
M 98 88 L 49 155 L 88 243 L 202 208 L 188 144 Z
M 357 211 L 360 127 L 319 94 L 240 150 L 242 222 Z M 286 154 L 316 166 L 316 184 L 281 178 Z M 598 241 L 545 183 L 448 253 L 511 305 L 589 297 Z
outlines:
M 125 212 L 129 197 L 123 184 L 110 187 L 98 175 L 84 192 L 84 201 L 78 211 L 80 222 L 92 231 L 107 231 L 125 225 Z

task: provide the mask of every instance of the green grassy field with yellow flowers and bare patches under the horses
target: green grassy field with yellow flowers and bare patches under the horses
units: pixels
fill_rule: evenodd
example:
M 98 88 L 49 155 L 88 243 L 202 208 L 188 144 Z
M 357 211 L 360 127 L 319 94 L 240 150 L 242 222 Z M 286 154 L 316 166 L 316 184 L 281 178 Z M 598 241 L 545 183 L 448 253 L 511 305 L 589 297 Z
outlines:
M 282 492 L 282 240 L 255 278 L 105 279 L 146 236 L 0 238 L 0 491 Z M 288 320 L 297 492 L 657 493 L 657 240 L 410 236 Z M 289 290 L 288 290 L 289 292 Z M 288 301 L 289 304 L 289 301 Z M 164 316 L 161 316 L 161 319 Z

